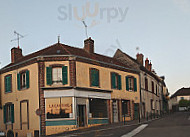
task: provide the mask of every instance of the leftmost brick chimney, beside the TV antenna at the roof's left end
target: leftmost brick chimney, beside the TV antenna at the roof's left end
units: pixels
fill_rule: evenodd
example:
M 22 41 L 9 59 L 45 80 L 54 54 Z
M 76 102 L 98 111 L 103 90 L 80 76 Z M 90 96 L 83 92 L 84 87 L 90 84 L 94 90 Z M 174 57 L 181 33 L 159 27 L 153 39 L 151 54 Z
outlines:
M 11 49 L 11 62 L 15 63 L 17 60 L 19 60 L 20 58 L 22 58 L 22 49 L 19 48 L 19 46 L 17 48 L 12 48 Z

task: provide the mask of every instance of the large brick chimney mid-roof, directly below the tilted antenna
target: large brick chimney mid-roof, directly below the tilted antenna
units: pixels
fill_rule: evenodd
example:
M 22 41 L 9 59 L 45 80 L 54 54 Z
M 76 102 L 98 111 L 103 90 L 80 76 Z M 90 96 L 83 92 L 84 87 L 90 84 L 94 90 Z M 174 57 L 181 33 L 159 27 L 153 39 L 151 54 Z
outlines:
M 88 53 L 94 53 L 94 40 L 91 37 L 84 41 L 84 50 Z

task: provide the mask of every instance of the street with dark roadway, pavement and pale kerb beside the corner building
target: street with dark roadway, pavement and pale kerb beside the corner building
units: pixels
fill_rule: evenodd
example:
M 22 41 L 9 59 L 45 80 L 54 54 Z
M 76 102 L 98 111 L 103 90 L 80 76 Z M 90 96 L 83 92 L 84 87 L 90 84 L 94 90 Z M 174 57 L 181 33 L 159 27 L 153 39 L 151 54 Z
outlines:
M 56 137 L 190 137 L 190 112 L 177 112 L 142 125 L 104 126 Z

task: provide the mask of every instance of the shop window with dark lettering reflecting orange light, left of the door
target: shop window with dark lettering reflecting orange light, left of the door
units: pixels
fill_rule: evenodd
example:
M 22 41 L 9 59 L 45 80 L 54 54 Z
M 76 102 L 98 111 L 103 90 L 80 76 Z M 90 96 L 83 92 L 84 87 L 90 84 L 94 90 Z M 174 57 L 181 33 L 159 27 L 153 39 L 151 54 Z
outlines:
M 72 97 L 46 99 L 46 118 L 72 118 Z

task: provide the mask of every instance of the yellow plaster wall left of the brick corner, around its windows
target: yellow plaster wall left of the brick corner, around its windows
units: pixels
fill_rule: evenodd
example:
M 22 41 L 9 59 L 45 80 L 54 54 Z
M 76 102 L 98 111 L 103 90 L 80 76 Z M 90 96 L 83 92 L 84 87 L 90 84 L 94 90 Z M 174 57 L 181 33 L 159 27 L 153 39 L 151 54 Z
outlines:
M 17 90 L 17 73 L 22 70 L 28 69 L 30 71 L 30 87 L 29 89 Z M 12 74 L 12 92 L 5 93 L 4 77 L 8 74 Z M 35 111 L 39 108 L 39 92 L 38 92 L 38 64 L 31 64 L 23 68 L 19 68 L 1 75 L 1 94 L 2 94 L 2 105 L 8 102 L 14 104 L 15 111 L 15 123 L 13 124 L 13 131 L 22 133 L 24 136 L 28 132 L 33 130 L 39 130 L 39 116 L 36 115 Z M 20 130 L 20 101 L 29 101 L 29 130 Z M 3 109 L 1 110 L 3 114 Z M 0 116 L 0 130 L 5 131 L 5 125 L 3 123 L 3 116 Z M 8 126 L 11 129 L 11 126 Z M 19 135 L 21 136 L 21 135 Z

